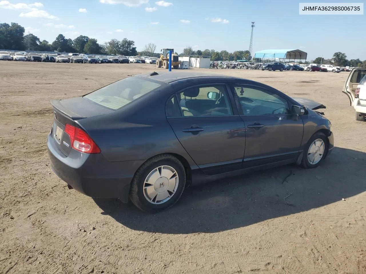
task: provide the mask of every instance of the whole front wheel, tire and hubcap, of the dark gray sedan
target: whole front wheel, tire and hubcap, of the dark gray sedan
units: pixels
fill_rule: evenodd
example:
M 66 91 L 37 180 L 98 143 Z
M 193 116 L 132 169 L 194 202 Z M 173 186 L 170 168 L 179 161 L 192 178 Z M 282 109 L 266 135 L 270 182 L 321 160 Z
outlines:
M 328 152 L 327 138 L 323 133 L 315 133 L 304 148 L 304 155 L 301 161 L 303 168 L 315 168 L 320 165 Z

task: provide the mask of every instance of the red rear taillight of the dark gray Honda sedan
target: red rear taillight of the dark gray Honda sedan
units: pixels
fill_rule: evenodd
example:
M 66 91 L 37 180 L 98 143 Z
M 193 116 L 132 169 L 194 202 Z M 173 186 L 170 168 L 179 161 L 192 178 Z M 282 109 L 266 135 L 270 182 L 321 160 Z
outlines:
M 100 153 L 100 148 L 85 131 L 66 124 L 65 133 L 70 136 L 73 149 L 84 153 Z

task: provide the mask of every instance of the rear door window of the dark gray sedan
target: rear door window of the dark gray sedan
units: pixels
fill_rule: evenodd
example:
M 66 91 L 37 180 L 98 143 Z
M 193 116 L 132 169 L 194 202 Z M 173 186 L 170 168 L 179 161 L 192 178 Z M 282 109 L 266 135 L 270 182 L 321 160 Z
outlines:
M 178 94 L 183 116 L 232 115 L 232 109 L 225 85 L 213 84 L 191 87 Z

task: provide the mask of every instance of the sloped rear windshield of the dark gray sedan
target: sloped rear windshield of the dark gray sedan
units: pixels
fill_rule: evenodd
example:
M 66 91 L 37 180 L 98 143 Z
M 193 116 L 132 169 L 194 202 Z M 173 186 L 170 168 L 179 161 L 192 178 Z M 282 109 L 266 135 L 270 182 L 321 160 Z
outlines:
M 93 91 L 84 98 L 116 110 L 160 86 L 141 77 L 128 77 Z

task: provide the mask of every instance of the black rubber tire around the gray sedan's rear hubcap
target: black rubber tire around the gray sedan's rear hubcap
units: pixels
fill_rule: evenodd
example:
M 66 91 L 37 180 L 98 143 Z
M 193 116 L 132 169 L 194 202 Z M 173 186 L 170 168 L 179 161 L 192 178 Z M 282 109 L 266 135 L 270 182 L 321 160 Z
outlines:
M 163 168 L 159 169 L 159 167 L 162 166 Z M 171 178 L 174 179 L 174 176 L 176 176 L 175 177 L 176 179 L 169 182 L 167 180 L 170 178 L 167 179 L 167 177 L 161 176 L 164 175 L 162 174 L 162 172 L 167 172 L 169 176 L 170 174 L 172 174 Z M 148 177 L 151 176 L 150 174 L 157 174 L 158 178 L 155 180 L 154 184 L 150 185 L 150 187 L 153 188 L 153 190 L 150 190 L 151 194 L 149 194 L 149 191 L 146 190 L 147 188 L 144 187 L 145 181 L 148 181 Z M 173 184 L 171 185 L 171 183 Z M 179 200 L 180 196 L 183 193 L 185 185 L 186 185 L 186 172 L 184 171 L 182 163 L 176 157 L 170 154 L 158 155 L 147 160 L 136 171 L 135 176 L 131 181 L 130 199 L 135 206 L 137 206 L 139 209 L 145 212 L 149 213 L 159 212 L 172 207 Z M 171 191 L 168 191 L 169 186 L 174 187 L 173 194 Z M 167 193 L 170 194 L 171 197 L 165 198 L 165 199 L 169 198 L 165 202 L 164 199 L 161 201 L 157 200 L 158 194 L 156 189 L 158 190 L 163 189 L 162 191 L 164 191 L 165 189 L 166 192 L 164 191 L 161 194 Z M 151 199 L 152 196 L 153 198 Z M 162 196 L 162 198 L 163 197 L 164 196 Z M 150 199 L 151 202 L 149 201 Z

